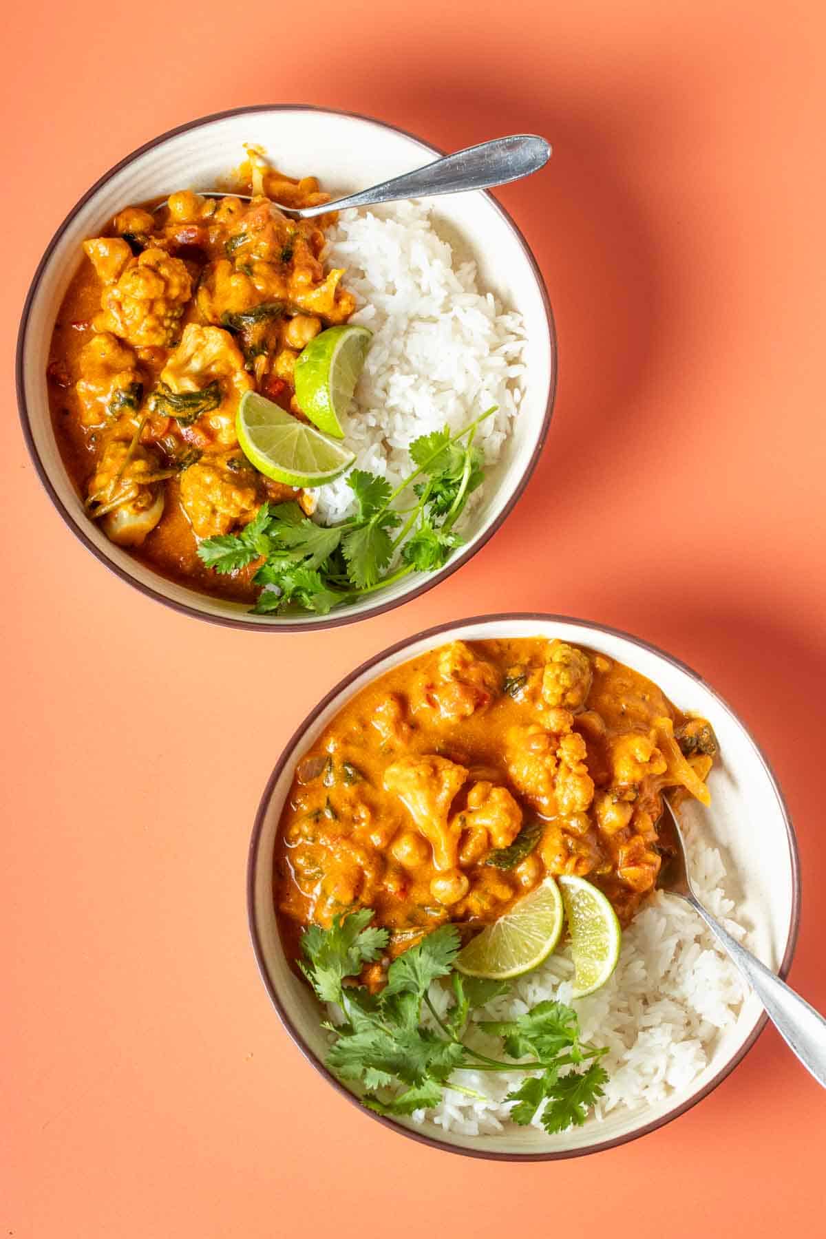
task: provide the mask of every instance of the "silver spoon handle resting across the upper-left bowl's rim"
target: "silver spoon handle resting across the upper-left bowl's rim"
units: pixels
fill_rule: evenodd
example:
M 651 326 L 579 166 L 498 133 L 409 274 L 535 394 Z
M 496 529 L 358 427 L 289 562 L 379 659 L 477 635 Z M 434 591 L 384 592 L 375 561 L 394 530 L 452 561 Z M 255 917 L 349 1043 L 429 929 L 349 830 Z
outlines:
M 497 138 L 492 142 L 468 146 L 437 159 L 415 172 L 405 172 L 391 181 L 374 185 L 372 190 L 350 193 L 334 202 L 324 202 L 318 207 L 305 207 L 300 213 L 305 218 L 321 216 L 327 211 L 343 211 L 346 207 L 374 207 L 380 202 L 399 202 L 402 198 L 422 198 L 436 193 L 463 193 L 467 190 L 488 190 L 494 185 L 506 185 L 523 176 L 530 176 L 544 167 L 551 157 L 551 147 L 544 138 L 534 134 L 514 134 L 510 138 Z

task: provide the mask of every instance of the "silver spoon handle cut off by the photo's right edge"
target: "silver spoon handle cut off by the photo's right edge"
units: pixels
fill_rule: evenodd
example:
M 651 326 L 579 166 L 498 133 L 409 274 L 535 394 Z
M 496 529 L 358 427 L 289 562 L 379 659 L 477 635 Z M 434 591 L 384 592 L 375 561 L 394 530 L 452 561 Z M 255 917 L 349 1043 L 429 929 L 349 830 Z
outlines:
M 826 1020 L 799 994 L 789 989 L 785 981 L 775 976 L 765 964 L 762 964 L 750 950 L 741 947 L 711 913 L 706 912 L 693 895 L 686 898 L 737 964 L 780 1036 L 819 1084 L 826 1088 Z

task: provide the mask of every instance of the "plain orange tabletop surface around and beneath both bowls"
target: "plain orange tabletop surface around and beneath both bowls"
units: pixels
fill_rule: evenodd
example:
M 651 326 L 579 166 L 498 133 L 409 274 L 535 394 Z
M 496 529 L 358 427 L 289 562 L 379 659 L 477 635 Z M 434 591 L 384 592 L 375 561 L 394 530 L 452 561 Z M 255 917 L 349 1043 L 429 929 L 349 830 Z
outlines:
M 0 1237 L 824 1234 L 826 1095 L 774 1031 L 637 1144 L 457 1158 L 302 1061 L 244 903 L 260 790 L 341 675 L 451 617 L 566 612 L 664 646 L 754 730 L 800 839 L 791 980 L 826 1009 L 824 6 L 35 2 L 4 41 Z M 331 634 L 209 627 L 107 574 L 37 482 L 10 379 L 87 186 L 172 125 L 275 102 L 555 146 L 500 193 L 560 333 L 534 479 L 450 581 Z

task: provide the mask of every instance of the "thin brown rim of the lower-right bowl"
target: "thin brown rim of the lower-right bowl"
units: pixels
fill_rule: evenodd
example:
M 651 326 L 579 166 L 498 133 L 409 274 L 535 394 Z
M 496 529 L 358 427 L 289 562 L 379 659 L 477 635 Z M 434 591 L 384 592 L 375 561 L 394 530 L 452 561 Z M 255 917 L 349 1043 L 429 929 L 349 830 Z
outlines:
M 728 1075 L 731 1075 L 734 1068 L 739 1066 L 746 1054 L 754 1046 L 755 1041 L 758 1040 L 758 1037 L 765 1028 L 767 1023 L 769 1022 L 769 1017 L 765 1014 L 765 1011 L 758 1017 L 754 1028 L 752 1030 L 744 1043 L 741 1046 L 741 1048 L 737 1051 L 737 1053 L 733 1054 L 732 1058 L 721 1067 L 721 1069 L 716 1073 L 716 1075 L 713 1075 L 712 1079 L 710 1079 L 700 1089 L 698 1093 L 687 1098 L 680 1105 L 675 1106 L 674 1110 L 670 1110 L 661 1118 L 655 1119 L 651 1123 L 644 1123 L 641 1126 L 637 1127 L 633 1131 L 625 1132 L 624 1135 L 620 1136 L 613 1136 L 609 1140 L 599 1140 L 596 1144 L 588 1146 L 587 1149 L 565 1149 L 565 1150 L 551 1150 L 549 1152 L 529 1152 L 529 1154 L 502 1152 L 494 1150 L 485 1151 L 484 1149 L 464 1149 L 457 1145 L 448 1144 L 446 1140 L 441 1140 L 438 1136 L 431 1136 L 430 1134 L 424 1131 L 415 1131 L 405 1126 L 404 1124 L 396 1123 L 394 1119 L 386 1115 L 376 1114 L 374 1110 L 368 1110 L 367 1106 L 362 1105 L 358 1098 L 354 1097 L 354 1094 L 350 1093 L 350 1090 L 346 1088 L 332 1074 L 332 1072 L 324 1066 L 324 1063 L 321 1062 L 321 1059 L 316 1058 L 315 1053 L 312 1052 L 307 1042 L 303 1040 L 301 1031 L 290 1020 L 290 1016 L 287 1015 L 277 995 L 276 987 L 272 984 L 272 980 L 267 971 L 266 959 L 264 955 L 264 949 L 261 945 L 261 939 L 259 935 L 258 923 L 255 917 L 255 877 L 258 872 L 258 854 L 269 804 L 272 798 L 276 783 L 279 782 L 285 766 L 287 764 L 289 761 L 291 761 L 296 747 L 303 738 L 305 732 L 312 726 L 312 724 L 316 721 L 320 714 L 322 714 L 322 711 L 326 710 L 327 706 L 337 696 L 339 696 L 342 693 L 346 693 L 347 689 L 353 684 L 353 681 L 357 680 L 359 676 L 362 676 L 365 672 L 369 672 L 372 668 L 376 667 L 385 659 L 391 658 L 394 654 L 402 652 L 404 649 L 412 646 L 415 642 L 446 634 L 452 629 L 462 628 L 466 624 L 506 623 L 514 620 L 521 620 L 529 622 L 539 621 L 542 623 L 581 624 L 582 627 L 592 628 L 594 632 L 606 633 L 612 637 L 620 637 L 625 641 L 629 641 L 633 646 L 637 646 L 639 649 L 644 649 L 649 653 L 658 654 L 660 658 L 664 658 L 672 667 L 690 675 L 691 679 L 696 680 L 697 684 L 700 684 L 703 689 L 706 689 L 706 691 L 708 691 L 712 695 L 717 705 L 719 705 L 723 710 L 728 711 L 728 714 L 734 719 L 734 721 L 743 729 L 744 733 L 754 746 L 754 751 L 778 798 L 778 804 L 780 807 L 783 823 L 786 830 L 786 843 L 789 846 L 789 860 L 791 865 L 791 918 L 789 923 L 789 935 L 786 938 L 785 950 L 783 954 L 783 959 L 780 961 L 780 966 L 778 969 L 778 975 L 785 979 L 785 976 L 789 973 L 789 969 L 791 968 L 791 960 L 794 958 L 795 948 L 798 945 L 798 935 L 800 932 L 800 902 L 802 893 L 802 883 L 800 877 L 800 854 L 798 850 L 798 838 L 791 821 L 791 815 L 789 813 L 786 799 L 783 794 L 780 784 L 776 779 L 776 776 L 769 761 L 767 760 L 763 750 L 758 745 L 750 730 L 746 726 L 746 724 L 737 714 L 737 711 L 732 709 L 728 701 L 723 696 L 721 696 L 721 694 L 717 693 L 717 690 L 712 688 L 712 685 L 706 679 L 703 679 L 702 675 L 695 672 L 692 667 L 689 667 L 687 663 L 684 663 L 681 659 L 675 658 L 674 654 L 669 654 L 667 650 L 661 649 L 659 646 L 655 646 L 651 642 L 644 641 L 641 637 L 637 637 L 633 633 L 625 632 L 622 628 L 613 628 L 609 624 L 596 623 L 591 620 L 581 620 L 575 616 L 555 615 L 545 611 L 505 611 L 505 612 L 494 612 L 490 615 L 468 616 L 459 620 L 450 620 L 441 624 L 435 624 L 432 628 L 425 628 L 421 632 L 412 633 L 410 637 L 405 637 L 401 641 L 394 642 L 394 644 L 388 646 L 378 654 L 374 654 L 372 658 L 365 659 L 354 670 L 344 675 L 329 690 L 329 693 L 327 693 L 322 698 L 318 705 L 316 705 L 310 711 L 310 714 L 307 714 L 305 720 L 296 727 L 292 736 L 285 745 L 284 751 L 281 752 L 281 756 L 279 757 L 279 761 L 276 762 L 272 773 L 267 779 L 264 794 L 259 803 L 258 812 L 255 814 L 255 821 L 253 825 L 253 835 L 250 839 L 249 854 L 248 854 L 246 913 L 248 913 L 250 938 L 253 942 L 253 950 L 255 953 L 255 959 L 258 961 L 264 986 L 267 994 L 270 995 L 270 1001 L 272 1002 L 276 1012 L 279 1014 L 281 1023 L 284 1025 L 287 1035 L 298 1047 L 303 1057 L 311 1063 L 311 1066 L 315 1067 L 316 1070 L 320 1072 L 321 1075 L 323 1075 L 333 1085 L 333 1088 L 336 1088 L 338 1093 L 341 1093 L 343 1097 L 348 1099 L 348 1101 L 355 1105 L 360 1114 L 364 1114 L 368 1118 L 374 1119 L 376 1123 L 384 1124 L 391 1131 L 395 1131 L 402 1136 L 407 1136 L 411 1140 L 417 1140 L 420 1144 L 430 1145 L 431 1149 L 443 1150 L 445 1152 L 457 1154 L 464 1157 L 482 1157 L 488 1161 L 515 1161 L 515 1162 L 563 1161 L 568 1157 L 586 1157 L 589 1156 L 591 1154 L 606 1152 L 609 1149 L 617 1149 L 619 1145 L 629 1144 L 632 1140 L 639 1140 L 640 1136 L 646 1136 L 650 1132 L 656 1131 L 659 1127 L 664 1127 L 667 1123 L 672 1123 L 674 1119 L 680 1118 L 681 1114 L 685 1114 L 687 1110 L 693 1109 L 695 1105 L 702 1101 L 703 1098 L 708 1097 L 710 1093 L 713 1093 L 713 1090 L 719 1084 L 722 1084 L 722 1082 Z

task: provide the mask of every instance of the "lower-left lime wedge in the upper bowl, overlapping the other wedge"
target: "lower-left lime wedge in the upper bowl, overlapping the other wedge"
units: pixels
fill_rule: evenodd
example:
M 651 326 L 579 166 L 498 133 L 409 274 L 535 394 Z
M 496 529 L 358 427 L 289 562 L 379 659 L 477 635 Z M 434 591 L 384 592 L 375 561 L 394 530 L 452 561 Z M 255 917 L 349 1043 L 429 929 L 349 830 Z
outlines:
M 265 477 L 311 489 L 348 468 L 355 456 L 334 439 L 305 425 L 258 392 L 245 392 L 235 432 L 241 451 Z

